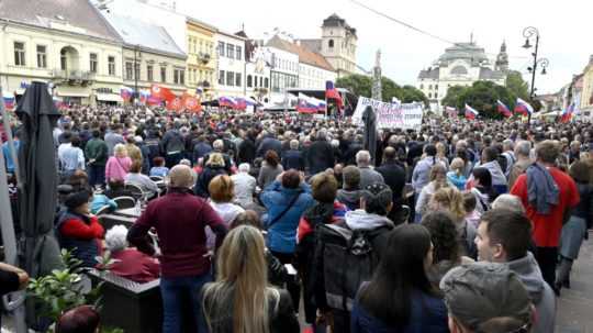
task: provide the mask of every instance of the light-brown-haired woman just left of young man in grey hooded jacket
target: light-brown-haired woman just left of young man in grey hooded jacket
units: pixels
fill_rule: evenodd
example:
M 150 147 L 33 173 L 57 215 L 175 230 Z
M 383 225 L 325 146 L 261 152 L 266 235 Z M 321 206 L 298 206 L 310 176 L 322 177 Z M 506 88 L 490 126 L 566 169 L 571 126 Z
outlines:
M 473 240 L 477 232 L 475 227 L 466 220 L 463 193 L 454 187 L 440 188 L 430 198 L 428 208 L 430 211 L 445 211 L 451 215 L 465 255 L 475 258 L 478 251 Z

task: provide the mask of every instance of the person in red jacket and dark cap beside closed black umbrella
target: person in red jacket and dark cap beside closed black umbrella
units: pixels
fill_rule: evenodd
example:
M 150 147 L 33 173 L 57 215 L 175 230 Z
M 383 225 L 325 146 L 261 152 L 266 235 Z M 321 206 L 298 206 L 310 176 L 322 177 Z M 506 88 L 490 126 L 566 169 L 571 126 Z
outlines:
M 96 215 L 90 213 L 89 200 L 92 195 L 88 190 L 74 192 L 66 197 L 64 211 L 58 218 L 60 246 L 71 251 L 74 256 L 81 260 L 82 267 L 94 267 L 96 257 L 101 255 L 103 226 L 99 224 Z

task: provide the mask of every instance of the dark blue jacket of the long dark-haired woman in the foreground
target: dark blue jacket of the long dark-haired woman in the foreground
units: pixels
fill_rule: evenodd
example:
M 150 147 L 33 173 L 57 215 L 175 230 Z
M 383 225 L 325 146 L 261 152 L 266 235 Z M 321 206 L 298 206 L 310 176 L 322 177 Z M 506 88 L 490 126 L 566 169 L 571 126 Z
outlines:
M 412 292 L 410 323 L 405 326 L 391 328 L 369 314 L 358 300 L 350 315 L 350 333 L 446 333 L 449 332 L 447 308 L 436 297 L 419 291 Z

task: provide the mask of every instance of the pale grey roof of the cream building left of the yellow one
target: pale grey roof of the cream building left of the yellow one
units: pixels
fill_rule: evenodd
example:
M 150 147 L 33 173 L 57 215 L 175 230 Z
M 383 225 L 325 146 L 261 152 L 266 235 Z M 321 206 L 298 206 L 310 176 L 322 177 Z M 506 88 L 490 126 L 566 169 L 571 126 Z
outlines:
M 138 45 L 155 52 L 186 57 L 186 53 L 177 46 L 163 26 L 112 13 L 104 13 L 104 18 L 127 45 Z

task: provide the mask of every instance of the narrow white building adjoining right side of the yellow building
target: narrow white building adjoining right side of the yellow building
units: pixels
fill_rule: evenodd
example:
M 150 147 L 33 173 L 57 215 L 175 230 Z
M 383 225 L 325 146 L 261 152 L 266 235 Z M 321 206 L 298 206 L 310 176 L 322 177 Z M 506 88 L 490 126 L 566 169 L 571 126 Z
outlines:
M 214 35 L 217 49 L 217 80 L 214 85 L 219 97 L 245 96 L 245 42 L 246 38 L 217 31 Z

